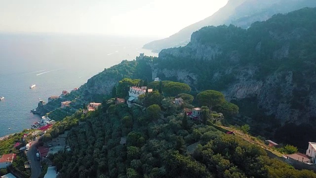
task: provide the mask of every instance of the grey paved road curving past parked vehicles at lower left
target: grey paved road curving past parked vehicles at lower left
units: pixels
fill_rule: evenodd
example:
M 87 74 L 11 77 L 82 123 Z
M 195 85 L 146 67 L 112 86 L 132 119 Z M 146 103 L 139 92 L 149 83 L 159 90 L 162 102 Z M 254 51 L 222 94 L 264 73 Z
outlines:
M 29 162 L 31 163 L 32 168 L 32 176 L 31 178 L 38 178 L 40 176 L 40 161 L 36 159 L 36 153 L 37 153 L 37 144 L 39 142 L 39 138 L 35 141 L 31 142 L 31 146 L 29 150 L 26 152 L 26 155 L 28 157 Z

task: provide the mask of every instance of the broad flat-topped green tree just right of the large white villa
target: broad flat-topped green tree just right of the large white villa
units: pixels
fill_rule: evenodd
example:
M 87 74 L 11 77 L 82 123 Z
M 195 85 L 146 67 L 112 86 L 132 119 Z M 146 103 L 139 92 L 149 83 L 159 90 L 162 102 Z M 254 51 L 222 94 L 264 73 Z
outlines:
M 189 91 L 191 91 L 190 86 L 180 82 L 170 82 L 163 86 L 163 92 L 169 96 L 176 96 L 179 93 Z

